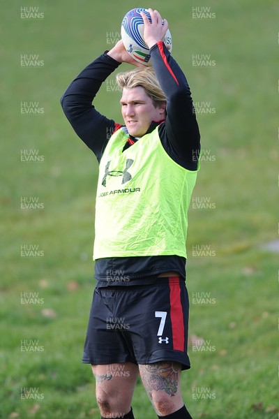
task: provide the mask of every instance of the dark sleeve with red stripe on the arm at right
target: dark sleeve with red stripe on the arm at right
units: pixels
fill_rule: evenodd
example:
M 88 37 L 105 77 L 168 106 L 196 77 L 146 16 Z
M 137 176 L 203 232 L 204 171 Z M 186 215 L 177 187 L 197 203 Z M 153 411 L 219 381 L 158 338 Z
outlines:
M 183 71 L 165 47 L 158 42 L 151 47 L 153 68 L 167 98 L 165 140 L 179 163 L 196 170 L 200 149 L 200 135 L 190 87 Z

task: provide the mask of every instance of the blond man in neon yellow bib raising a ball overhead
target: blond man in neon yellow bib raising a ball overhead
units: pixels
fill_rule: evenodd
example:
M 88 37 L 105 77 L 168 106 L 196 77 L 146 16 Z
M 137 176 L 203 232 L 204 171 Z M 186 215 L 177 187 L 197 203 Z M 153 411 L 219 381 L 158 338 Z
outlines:
M 117 76 L 124 125 L 91 105 L 122 63 L 139 64 L 122 41 L 89 64 L 61 103 L 100 164 L 96 196 L 96 289 L 83 362 L 92 365 L 101 418 L 133 419 L 137 377 L 158 418 L 191 418 L 183 404 L 187 355 L 186 232 L 199 168 L 190 89 L 163 43 L 167 21 L 144 13 L 153 71 Z

